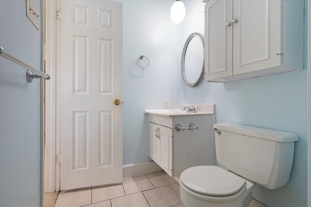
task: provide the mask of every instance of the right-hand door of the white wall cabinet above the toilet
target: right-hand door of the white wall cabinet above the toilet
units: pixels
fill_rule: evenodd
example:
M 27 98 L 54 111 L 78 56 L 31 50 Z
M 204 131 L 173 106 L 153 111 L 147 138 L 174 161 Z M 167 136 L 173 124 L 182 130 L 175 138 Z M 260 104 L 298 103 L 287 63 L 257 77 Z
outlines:
M 281 0 L 234 0 L 233 75 L 281 65 Z

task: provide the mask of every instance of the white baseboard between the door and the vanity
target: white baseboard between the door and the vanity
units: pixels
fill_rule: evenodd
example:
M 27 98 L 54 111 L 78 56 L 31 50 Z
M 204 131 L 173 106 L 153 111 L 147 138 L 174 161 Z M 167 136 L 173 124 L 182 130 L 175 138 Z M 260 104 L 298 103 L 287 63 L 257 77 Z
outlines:
M 154 161 L 123 165 L 123 177 L 162 170 Z

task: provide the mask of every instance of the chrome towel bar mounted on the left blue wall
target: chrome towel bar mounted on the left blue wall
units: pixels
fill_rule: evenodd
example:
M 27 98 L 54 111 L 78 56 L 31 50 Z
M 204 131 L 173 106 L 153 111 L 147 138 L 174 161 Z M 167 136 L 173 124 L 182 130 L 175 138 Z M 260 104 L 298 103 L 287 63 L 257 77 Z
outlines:
M 38 79 L 41 77 L 44 78 L 45 80 L 51 79 L 51 76 L 49 74 L 45 74 L 45 73 L 41 72 L 40 70 L 33 68 L 29 64 L 26 64 L 26 63 L 18 60 L 16 57 L 10 55 L 9 53 L 5 52 L 1 45 L 0 45 L 0 56 L 12 61 L 13 63 L 16 63 L 16 64 L 28 69 L 26 72 L 26 78 L 27 78 L 28 82 L 32 82 L 34 78 Z

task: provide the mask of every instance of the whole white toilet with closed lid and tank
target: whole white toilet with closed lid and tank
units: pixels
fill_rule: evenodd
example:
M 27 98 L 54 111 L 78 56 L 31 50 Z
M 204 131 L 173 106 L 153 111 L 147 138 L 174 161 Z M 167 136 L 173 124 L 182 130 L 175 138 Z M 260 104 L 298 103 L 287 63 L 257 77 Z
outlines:
M 195 166 L 179 178 L 186 207 L 248 207 L 255 183 L 277 189 L 289 178 L 294 133 L 237 124 L 215 124 L 218 166 Z

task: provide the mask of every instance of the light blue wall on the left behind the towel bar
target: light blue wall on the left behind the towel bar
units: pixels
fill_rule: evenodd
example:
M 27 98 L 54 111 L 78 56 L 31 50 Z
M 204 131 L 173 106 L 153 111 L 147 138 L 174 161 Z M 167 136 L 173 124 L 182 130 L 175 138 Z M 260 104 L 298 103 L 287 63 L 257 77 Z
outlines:
M 39 69 L 40 31 L 25 14 L 25 0 L 0 0 L 0 45 Z M 0 207 L 39 207 L 40 194 L 40 80 L 0 57 Z

